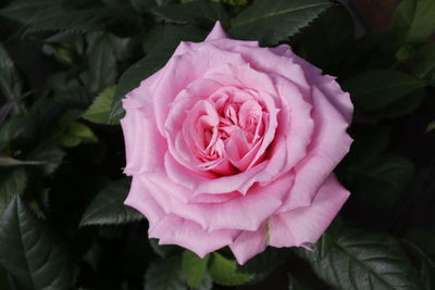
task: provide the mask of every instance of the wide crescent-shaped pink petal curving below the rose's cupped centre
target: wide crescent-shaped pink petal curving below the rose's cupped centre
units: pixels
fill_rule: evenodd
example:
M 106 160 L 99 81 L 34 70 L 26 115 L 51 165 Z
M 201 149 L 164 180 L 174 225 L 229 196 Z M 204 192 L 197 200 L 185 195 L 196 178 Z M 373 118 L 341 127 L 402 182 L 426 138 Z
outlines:
M 187 190 L 170 185 L 164 177 L 147 175 L 141 177 L 141 181 L 166 213 L 194 220 L 208 231 L 225 228 L 257 230 L 282 204 L 283 197 L 291 187 L 291 177 L 284 176 L 264 188 L 254 186 L 246 197 L 239 196 L 222 203 L 184 203 L 173 192 Z

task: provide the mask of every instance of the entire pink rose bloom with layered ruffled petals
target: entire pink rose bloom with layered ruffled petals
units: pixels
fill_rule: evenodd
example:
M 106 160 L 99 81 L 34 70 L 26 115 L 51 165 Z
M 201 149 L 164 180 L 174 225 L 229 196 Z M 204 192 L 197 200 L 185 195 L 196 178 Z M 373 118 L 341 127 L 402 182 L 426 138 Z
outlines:
M 216 23 L 123 106 L 125 204 L 160 244 L 228 245 L 243 264 L 315 242 L 349 197 L 332 173 L 352 141 L 349 94 L 286 45 L 229 39 Z

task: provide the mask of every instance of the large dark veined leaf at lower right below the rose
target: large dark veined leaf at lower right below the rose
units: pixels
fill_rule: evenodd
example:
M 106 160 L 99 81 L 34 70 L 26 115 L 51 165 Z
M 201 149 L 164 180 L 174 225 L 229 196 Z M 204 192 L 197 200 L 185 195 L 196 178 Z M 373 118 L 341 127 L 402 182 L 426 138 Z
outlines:
M 322 260 L 298 251 L 334 289 L 421 289 L 415 268 L 390 236 L 347 229 L 330 238 L 331 248 Z

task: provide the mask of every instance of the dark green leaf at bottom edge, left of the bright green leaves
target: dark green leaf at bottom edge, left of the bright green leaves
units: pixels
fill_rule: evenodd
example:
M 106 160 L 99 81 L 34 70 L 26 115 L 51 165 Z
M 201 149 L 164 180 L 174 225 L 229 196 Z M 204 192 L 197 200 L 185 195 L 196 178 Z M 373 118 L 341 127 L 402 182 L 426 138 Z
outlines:
M 145 279 L 145 289 L 187 290 L 183 281 L 182 260 L 178 255 L 152 263 Z

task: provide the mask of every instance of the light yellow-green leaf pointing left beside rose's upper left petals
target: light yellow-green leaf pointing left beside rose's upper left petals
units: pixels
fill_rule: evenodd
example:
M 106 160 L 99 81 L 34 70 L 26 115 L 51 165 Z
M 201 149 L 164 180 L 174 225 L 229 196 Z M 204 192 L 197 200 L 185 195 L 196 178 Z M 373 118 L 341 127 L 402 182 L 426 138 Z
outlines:
M 110 124 L 109 114 L 116 86 L 112 86 L 100 92 L 82 116 L 89 122 Z

